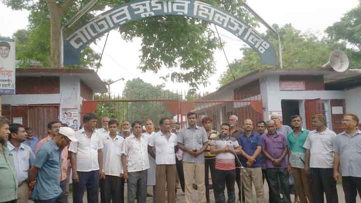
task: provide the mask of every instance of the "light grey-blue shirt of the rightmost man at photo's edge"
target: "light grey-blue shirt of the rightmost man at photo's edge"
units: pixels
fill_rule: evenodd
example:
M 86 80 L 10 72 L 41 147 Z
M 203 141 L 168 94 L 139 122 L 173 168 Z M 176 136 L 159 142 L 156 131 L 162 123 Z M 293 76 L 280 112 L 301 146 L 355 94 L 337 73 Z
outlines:
M 361 131 L 353 136 L 346 132 L 333 139 L 333 151 L 339 153 L 342 176 L 361 177 Z

